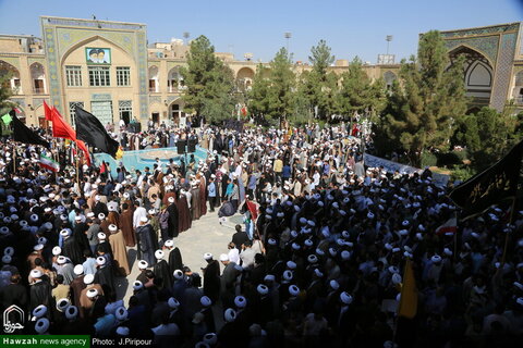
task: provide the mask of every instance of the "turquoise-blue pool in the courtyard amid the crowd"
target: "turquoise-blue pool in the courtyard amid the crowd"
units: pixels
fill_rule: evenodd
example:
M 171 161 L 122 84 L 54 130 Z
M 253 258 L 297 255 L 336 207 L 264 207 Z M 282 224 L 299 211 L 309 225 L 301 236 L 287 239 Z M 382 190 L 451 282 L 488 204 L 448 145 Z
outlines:
M 199 160 L 205 161 L 207 159 L 208 151 L 199 146 L 196 147 L 194 158 L 196 163 Z M 135 150 L 135 151 L 124 151 L 123 157 L 120 160 L 114 160 L 110 154 L 107 153 L 95 153 L 95 164 L 98 166 L 101 164 L 101 161 L 106 161 L 111 166 L 112 175 L 117 174 L 117 166 L 120 162 L 123 162 L 125 169 L 134 175 L 136 170 L 144 171 L 148 166 L 151 171 L 154 164 L 156 163 L 156 158 L 160 159 L 160 162 L 166 166 L 169 164 L 169 160 L 173 159 L 174 163 L 180 163 L 180 160 L 185 157 L 185 163 L 188 163 L 191 153 L 179 154 L 177 148 L 159 148 L 159 149 L 146 149 L 146 150 Z

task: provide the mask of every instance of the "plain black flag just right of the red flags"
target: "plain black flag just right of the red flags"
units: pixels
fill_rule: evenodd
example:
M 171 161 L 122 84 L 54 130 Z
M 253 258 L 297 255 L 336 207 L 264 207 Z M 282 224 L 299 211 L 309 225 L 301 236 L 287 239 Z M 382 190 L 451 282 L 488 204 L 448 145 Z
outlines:
M 115 158 L 119 144 L 109 136 L 101 122 L 80 107 L 76 107 L 75 115 L 76 138 Z

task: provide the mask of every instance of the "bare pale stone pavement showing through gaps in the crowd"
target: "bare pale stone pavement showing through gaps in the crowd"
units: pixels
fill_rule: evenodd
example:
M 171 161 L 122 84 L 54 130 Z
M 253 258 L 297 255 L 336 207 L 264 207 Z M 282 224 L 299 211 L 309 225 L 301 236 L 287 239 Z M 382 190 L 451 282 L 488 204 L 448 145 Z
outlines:
M 227 245 L 234 234 L 234 225 L 242 221 L 242 216 L 236 214 L 228 219 L 223 224 L 220 224 L 217 212 L 218 210 L 212 213 L 207 212 L 207 214 L 199 220 L 193 221 L 192 227 L 181 233 L 178 238 L 174 239 L 174 246 L 180 248 L 180 252 L 182 253 L 183 263 L 193 272 L 198 272 L 200 275 L 200 268 L 205 268 L 206 265 L 206 261 L 203 258 L 204 253 L 210 252 L 215 259 L 218 259 L 220 253 L 227 253 Z M 117 279 L 117 296 L 118 299 L 123 298 L 125 307 L 129 304 L 129 298 L 133 295 L 132 284 L 139 273 L 136 262 L 136 247 L 127 248 L 127 258 L 131 274 L 126 278 L 120 277 Z M 222 270 L 223 265 L 221 265 L 221 271 Z M 217 326 L 221 326 L 221 315 L 217 315 L 221 313 L 220 303 L 215 307 L 214 312 Z

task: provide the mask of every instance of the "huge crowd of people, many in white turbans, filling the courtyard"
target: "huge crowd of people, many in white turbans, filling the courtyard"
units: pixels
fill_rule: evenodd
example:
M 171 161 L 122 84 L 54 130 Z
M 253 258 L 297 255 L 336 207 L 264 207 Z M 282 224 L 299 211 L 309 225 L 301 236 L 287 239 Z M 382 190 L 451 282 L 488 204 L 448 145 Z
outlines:
M 38 167 L 42 149 L 4 138 L 1 310 L 27 311 L 25 333 L 165 347 L 513 346 L 523 334 L 523 212 L 508 224 L 507 208 L 492 207 L 437 234 L 459 210 L 450 187 L 428 170 L 366 167 L 349 133 L 121 130 L 125 149 L 194 138 L 208 150 L 134 173 L 70 165 L 63 144 L 52 173 Z M 223 253 L 191 270 L 177 237 L 215 209 L 244 224 Z M 134 247 L 139 275 L 123 301 L 115 287 Z M 408 259 L 414 319 L 397 315 Z

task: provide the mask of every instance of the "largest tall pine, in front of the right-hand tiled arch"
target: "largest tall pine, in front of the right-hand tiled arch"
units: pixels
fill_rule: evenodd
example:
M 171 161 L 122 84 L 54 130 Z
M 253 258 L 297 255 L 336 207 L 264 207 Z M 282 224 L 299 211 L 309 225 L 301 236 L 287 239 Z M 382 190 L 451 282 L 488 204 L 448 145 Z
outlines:
M 402 61 L 401 83 L 392 88 L 382 134 L 400 144 L 413 165 L 425 151 L 447 150 L 454 125 L 466 111 L 463 57 L 452 66 L 439 32 L 424 34 L 417 59 Z

